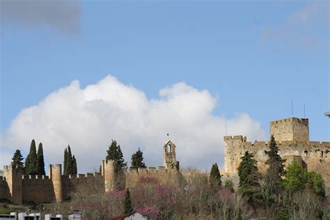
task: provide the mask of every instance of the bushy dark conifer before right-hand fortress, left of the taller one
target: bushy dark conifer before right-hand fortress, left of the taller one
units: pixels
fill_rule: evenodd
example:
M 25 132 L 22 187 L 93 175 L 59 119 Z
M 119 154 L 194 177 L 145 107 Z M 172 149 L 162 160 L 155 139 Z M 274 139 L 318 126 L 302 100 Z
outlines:
M 258 171 L 257 162 L 252 159 L 253 155 L 248 151 L 242 157 L 242 162 L 238 167 L 239 175 L 239 193 L 246 201 L 253 205 L 260 201 L 260 173 Z

